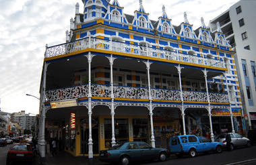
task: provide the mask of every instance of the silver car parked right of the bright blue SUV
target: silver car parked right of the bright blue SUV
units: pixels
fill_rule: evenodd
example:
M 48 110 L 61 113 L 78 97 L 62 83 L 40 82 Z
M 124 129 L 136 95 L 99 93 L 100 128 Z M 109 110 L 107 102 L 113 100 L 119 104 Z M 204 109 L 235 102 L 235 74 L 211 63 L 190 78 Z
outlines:
M 239 146 L 251 146 L 251 141 L 247 137 L 243 137 L 238 133 L 228 133 L 231 136 L 230 150 Z M 215 138 L 215 142 L 222 142 L 223 146 L 226 147 L 226 135 L 227 133 L 222 133 Z

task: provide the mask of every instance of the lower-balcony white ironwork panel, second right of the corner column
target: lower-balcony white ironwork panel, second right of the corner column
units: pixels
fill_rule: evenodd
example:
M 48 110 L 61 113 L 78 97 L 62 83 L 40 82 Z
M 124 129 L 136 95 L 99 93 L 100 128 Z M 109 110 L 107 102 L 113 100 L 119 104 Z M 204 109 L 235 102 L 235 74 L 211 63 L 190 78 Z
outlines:
M 113 89 L 115 98 L 148 99 L 146 88 L 114 86 Z

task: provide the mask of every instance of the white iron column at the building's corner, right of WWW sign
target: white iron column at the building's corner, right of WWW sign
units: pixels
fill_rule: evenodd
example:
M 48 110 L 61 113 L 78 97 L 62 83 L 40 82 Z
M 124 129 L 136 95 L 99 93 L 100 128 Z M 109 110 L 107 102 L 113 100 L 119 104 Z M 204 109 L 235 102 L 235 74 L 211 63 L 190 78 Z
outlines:
M 93 160 L 93 151 L 92 151 L 92 80 L 91 80 L 91 63 L 92 63 L 92 54 L 88 53 L 88 116 L 89 116 L 89 140 L 88 140 L 88 158 L 89 162 Z

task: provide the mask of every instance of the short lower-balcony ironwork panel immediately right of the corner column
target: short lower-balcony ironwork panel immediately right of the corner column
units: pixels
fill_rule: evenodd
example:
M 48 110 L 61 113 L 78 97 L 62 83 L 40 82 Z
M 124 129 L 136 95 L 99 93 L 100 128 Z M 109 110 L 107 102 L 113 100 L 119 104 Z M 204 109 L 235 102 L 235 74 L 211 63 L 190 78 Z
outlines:
M 111 87 L 106 85 L 92 85 L 92 97 L 110 97 Z

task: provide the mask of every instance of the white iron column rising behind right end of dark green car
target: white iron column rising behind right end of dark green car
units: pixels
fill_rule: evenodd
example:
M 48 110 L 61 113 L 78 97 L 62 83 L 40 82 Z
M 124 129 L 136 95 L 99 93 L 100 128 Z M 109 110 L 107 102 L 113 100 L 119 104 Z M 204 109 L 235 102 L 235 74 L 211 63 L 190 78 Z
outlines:
M 147 73 L 148 73 L 148 97 L 150 100 L 150 127 L 151 127 L 151 145 L 152 148 L 156 148 L 156 140 L 154 137 L 154 124 L 153 124 L 153 109 L 152 109 L 152 96 L 151 96 L 151 87 L 150 87 L 150 61 L 148 60 L 148 62 L 146 63 L 146 67 L 147 67 Z

